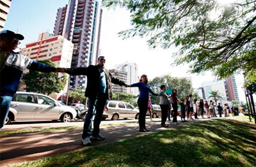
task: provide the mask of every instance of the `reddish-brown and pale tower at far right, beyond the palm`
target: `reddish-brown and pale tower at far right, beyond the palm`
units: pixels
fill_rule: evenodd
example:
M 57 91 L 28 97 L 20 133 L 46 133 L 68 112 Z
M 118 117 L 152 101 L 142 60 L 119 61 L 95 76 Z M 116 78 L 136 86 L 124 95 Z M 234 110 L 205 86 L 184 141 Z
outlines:
M 224 83 L 225 83 L 226 96 L 228 101 L 233 101 L 235 99 L 239 101 L 237 85 L 236 85 L 236 77 L 234 75 L 228 76 L 228 78 L 224 81 Z

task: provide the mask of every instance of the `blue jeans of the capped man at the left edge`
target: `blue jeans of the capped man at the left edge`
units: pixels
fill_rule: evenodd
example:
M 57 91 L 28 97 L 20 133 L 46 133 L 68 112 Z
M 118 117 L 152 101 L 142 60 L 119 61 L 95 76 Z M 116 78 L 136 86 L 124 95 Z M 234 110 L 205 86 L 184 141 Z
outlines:
M 12 102 L 12 96 L 1 96 L 0 129 L 4 126 L 4 122 L 9 113 L 11 102 Z

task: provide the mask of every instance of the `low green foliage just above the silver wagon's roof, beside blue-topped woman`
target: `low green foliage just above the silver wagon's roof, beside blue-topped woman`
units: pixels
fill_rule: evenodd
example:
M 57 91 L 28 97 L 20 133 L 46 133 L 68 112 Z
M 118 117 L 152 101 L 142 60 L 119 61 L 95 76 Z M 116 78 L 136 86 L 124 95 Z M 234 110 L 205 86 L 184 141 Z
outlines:
M 138 106 L 137 101 L 136 101 L 136 96 L 129 94 L 129 93 L 115 92 L 115 93 L 113 93 L 112 99 L 125 101 L 126 103 L 129 103 L 132 106 Z

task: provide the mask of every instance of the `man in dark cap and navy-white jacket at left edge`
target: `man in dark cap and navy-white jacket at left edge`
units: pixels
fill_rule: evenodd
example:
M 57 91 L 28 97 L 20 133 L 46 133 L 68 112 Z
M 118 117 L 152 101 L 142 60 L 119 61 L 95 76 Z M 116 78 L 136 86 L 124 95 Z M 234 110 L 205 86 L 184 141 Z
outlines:
M 32 69 L 45 73 L 54 72 L 56 68 L 33 61 L 19 52 L 14 52 L 19 40 L 24 40 L 22 34 L 10 30 L 0 31 L 0 83 L 1 83 L 1 111 L 0 129 L 9 112 L 14 94 L 17 92 L 20 78 L 24 69 Z

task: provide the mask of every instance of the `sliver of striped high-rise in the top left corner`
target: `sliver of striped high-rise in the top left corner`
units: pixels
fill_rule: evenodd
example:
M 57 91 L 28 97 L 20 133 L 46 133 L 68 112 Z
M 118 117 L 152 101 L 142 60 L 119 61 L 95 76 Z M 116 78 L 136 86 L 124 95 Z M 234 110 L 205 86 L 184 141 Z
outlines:
M 0 1 L 0 31 L 3 30 L 12 0 Z

